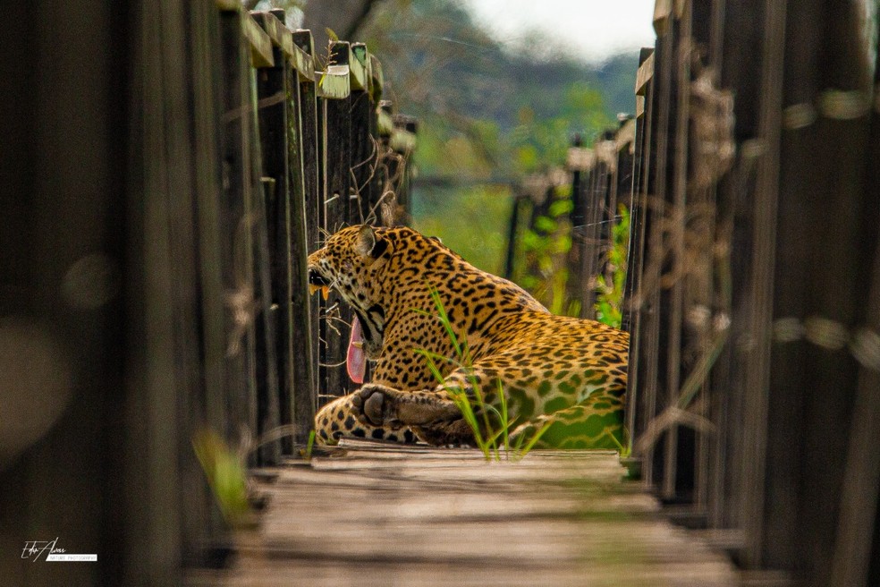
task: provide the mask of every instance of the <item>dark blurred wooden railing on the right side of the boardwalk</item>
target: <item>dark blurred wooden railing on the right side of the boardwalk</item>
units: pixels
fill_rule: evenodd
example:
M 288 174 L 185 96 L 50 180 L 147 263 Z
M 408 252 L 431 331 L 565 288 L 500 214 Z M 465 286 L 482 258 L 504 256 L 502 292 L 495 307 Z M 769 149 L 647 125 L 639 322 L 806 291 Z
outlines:
M 631 463 L 757 583 L 880 581 L 880 78 L 859 10 L 657 2 L 640 59 Z

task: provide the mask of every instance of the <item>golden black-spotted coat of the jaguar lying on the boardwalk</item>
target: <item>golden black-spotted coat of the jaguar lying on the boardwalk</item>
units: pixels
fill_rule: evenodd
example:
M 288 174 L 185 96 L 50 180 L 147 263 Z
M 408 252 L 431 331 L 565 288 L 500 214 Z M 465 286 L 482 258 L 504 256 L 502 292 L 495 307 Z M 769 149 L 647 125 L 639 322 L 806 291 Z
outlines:
M 309 283 L 341 294 L 360 319 L 372 381 L 317 413 L 317 438 L 416 438 L 472 444 L 473 432 L 446 389 L 471 396 L 474 380 L 490 404 L 507 398 L 514 437 L 546 421 L 544 446 L 615 448 L 622 442 L 629 336 L 593 320 L 554 316 L 519 286 L 474 268 L 436 239 L 410 228 L 344 228 L 309 256 Z M 436 318 L 435 288 L 472 371 L 438 362 L 438 385 L 424 349 L 454 357 Z

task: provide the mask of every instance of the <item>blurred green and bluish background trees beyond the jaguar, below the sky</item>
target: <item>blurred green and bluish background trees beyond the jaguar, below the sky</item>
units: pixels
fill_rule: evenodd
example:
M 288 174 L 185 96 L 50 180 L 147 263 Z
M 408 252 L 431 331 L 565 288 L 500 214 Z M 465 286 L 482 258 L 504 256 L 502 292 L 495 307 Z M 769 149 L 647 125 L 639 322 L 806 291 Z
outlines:
M 509 51 L 452 2 L 385 0 L 359 37 L 381 55 L 386 97 L 421 122 L 415 227 L 495 274 L 513 186 L 562 164 L 574 134 L 589 140 L 634 109 L 635 53 L 587 64 L 547 55 L 539 39 L 533 52 Z

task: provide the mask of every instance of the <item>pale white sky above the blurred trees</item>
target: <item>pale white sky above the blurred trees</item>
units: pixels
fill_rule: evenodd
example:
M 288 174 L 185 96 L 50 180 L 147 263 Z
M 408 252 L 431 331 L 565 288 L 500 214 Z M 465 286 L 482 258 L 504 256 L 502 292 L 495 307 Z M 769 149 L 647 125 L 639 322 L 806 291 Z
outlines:
M 484 29 L 516 47 L 530 31 L 585 61 L 654 46 L 656 0 L 461 0 Z M 552 41 L 553 42 L 553 41 Z M 578 55 L 572 55 L 578 56 Z

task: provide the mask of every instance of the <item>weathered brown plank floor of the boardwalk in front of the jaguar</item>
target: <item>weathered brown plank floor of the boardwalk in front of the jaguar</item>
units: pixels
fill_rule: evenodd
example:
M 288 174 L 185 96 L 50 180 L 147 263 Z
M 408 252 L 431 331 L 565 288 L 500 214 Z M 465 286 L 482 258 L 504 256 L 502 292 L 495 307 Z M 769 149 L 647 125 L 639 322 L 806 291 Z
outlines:
M 610 452 L 349 442 L 270 470 L 232 568 L 190 585 L 733 585 L 728 560 L 659 515 Z

